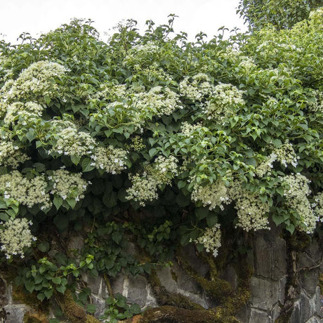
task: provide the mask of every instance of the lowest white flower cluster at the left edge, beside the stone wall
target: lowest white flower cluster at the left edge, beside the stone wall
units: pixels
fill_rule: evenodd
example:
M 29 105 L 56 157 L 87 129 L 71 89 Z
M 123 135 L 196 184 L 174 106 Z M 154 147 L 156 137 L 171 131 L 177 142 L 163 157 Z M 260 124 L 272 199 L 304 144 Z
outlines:
M 24 249 L 31 246 L 32 242 L 36 240 L 29 230 L 29 225 L 32 225 L 32 222 L 28 222 L 26 218 L 15 218 L 0 224 L 2 225 L 0 230 L 1 251 L 5 253 L 7 259 L 18 254 L 24 258 Z

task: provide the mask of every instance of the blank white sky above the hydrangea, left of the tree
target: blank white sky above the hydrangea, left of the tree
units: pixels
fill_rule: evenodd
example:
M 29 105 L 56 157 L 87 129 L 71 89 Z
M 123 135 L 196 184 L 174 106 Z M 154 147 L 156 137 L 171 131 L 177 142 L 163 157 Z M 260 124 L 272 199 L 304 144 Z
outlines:
M 90 18 L 106 40 L 105 32 L 111 34 L 121 20 L 133 18 L 145 30 L 146 20 L 160 25 L 175 13 L 175 32 L 187 32 L 193 40 L 202 31 L 210 38 L 221 26 L 246 30 L 235 13 L 238 4 L 239 0 L 0 0 L 0 34 L 15 43 L 22 32 L 37 38 L 72 18 Z

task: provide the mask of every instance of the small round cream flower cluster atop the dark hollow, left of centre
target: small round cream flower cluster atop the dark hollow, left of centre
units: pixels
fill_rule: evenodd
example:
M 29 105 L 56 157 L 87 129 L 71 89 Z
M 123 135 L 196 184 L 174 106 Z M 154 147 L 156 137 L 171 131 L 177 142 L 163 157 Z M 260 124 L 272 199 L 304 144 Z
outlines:
M 113 146 L 97 147 L 91 155 L 91 166 L 104 169 L 107 173 L 119 174 L 126 169 L 127 152 Z

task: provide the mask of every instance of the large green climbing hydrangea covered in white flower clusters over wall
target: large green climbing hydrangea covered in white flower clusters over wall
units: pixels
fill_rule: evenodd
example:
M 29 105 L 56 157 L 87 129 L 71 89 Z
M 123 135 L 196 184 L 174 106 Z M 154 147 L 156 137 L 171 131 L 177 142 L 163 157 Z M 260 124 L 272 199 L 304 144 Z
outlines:
M 136 274 L 124 235 L 162 262 L 179 244 L 216 256 L 229 228 L 322 225 L 322 9 L 196 43 L 173 19 L 107 43 L 79 20 L 1 41 L 2 256 L 37 261 L 32 247 L 77 230 L 95 274 Z

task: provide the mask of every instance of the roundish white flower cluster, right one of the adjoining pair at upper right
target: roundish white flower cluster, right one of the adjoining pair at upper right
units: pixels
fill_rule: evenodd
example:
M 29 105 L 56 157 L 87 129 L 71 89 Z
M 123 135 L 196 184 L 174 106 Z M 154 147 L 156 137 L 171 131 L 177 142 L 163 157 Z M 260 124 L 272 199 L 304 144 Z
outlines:
M 243 91 L 232 84 L 218 84 L 215 86 L 211 100 L 206 105 L 208 119 L 222 120 L 228 114 L 235 114 L 245 105 L 242 98 Z

